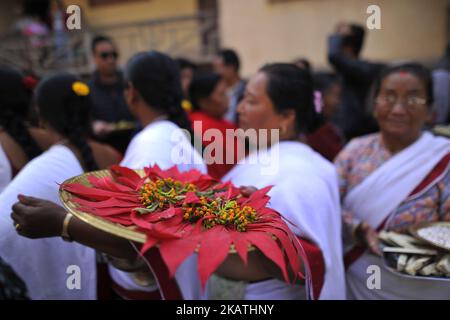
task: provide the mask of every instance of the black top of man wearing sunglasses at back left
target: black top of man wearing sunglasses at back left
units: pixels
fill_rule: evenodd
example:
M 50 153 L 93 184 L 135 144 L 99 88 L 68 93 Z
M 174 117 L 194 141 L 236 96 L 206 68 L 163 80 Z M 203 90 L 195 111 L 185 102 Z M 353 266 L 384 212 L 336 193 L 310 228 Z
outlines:
M 91 89 L 92 116 L 94 120 L 117 123 L 134 121 L 123 96 L 123 77 L 118 72 L 118 81 L 113 84 L 101 83 L 97 72 L 94 72 L 88 85 Z

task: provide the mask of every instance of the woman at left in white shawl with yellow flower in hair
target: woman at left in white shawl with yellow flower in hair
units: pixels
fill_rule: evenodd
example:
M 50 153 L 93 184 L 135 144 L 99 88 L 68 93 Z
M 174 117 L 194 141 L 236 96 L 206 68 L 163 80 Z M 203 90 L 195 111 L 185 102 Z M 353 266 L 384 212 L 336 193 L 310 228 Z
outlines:
M 75 90 L 74 84 L 83 90 Z M 16 229 L 22 226 L 10 217 L 19 194 L 59 202 L 59 183 L 83 173 L 84 168 L 97 168 L 97 163 L 104 168 L 119 160 L 111 148 L 84 140 L 89 132 L 87 94 L 87 86 L 72 75 L 55 75 L 42 82 L 37 91 L 40 119 L 61 143 L 29 162 L 0 195 L 0 256 L 25 282 L 31 299 L 97 297 L 94 250 L 60 238 L 21 237 Z M 52 223 L 56 222 L 47 224 Z M 75 287 L 69 281 L 73 266 L 81 272 L 80 282 L 73 283 Z

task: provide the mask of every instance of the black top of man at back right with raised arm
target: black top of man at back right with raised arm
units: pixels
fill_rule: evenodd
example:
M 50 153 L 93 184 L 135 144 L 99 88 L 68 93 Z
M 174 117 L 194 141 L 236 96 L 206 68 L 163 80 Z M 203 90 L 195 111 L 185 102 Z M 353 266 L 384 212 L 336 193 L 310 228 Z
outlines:
M 333 120 L 350 140 L 377 130 L 376 122 L 366 106 L 370 86 L 385 66 L 348 57 L 343 53 L 342 42 L 342 35 L 329 37 L 328 60 L 342 78 L 341 105 Z

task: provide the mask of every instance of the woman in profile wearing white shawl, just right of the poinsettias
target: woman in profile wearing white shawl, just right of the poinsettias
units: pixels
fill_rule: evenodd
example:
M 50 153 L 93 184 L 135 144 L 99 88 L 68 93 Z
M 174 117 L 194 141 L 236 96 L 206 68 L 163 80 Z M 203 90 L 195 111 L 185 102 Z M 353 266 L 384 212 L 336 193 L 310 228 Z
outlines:
M 303 285 L 266 280 L 273 278 L 270 274 L 266 279 L 254 279 L 252 273 L 264 274 L 264 270 L 246 270 L 242 262 L 225 262 L 218 275 L 251 282 L 244 288 L 244 299 L 345 299 L 337 174 L 328 161 L 296 141 L 299 132 L 309 129 L 315 119 L 310 75 L 289 64 L 263 67 L 249 81 L 238 113 L 240 127 L 245 130 L 281 128 L 281 142 L 271 137 L 272 146 L 261 150 L 265 142 L 258 140 L 260 151 L 241 161 L 223 180 L 231 180 L 237 186 L 273 185 L 270 206 L 292 222 L 291 229 L 298 237 L 320 249 L 325 270 L 322 288 L 316 292 L 311 283 L 315 270 L 309 269 L 308 264 L 317 261 L 303 261 L 306 290 Z M 250 274 L 243 276 L 241 270 Z M 209 288 L 208 294 L 214 295 L 214 289 Z

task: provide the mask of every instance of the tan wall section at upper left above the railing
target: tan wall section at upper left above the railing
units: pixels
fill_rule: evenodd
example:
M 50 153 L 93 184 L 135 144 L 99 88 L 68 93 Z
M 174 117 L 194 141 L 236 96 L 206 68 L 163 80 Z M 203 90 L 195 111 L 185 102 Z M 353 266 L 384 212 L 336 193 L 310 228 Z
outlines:
M 131 55 L 144 50 L 157 49 L 187 56 L 199 51 L 196 21 L 183 22 L 178 26 L 145 25 L 149 20 L 194 15 L 198 11 L 196 0 L 140 0 L 97 6 L 91 6 L 88 0 L 65 0 L 64 3 L 80 6 L 82 25 L 92 30 L 93 34 L 105 34 L 115 40 L 122 65 Z M 176 47 L 177 43 L 181 45 Z

